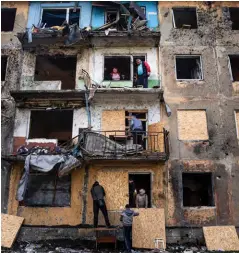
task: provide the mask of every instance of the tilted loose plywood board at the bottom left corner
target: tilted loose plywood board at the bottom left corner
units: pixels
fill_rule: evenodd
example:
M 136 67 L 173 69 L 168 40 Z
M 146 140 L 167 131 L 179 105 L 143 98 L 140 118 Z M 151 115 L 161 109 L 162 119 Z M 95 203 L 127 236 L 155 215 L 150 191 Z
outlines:
M 12 244 L 17 236 L 17 233 L 23 223 L 24 218 L 8 215 L 8 214 L 1 214 L 2 219 L 2 246 L 6 248 L 11 248 Z

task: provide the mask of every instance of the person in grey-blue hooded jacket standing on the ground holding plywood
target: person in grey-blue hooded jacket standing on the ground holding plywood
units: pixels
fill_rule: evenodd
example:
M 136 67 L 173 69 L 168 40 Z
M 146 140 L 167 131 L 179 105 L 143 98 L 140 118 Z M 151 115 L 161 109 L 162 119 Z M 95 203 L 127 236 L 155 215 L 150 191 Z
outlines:
M 129 204 L 125 206 L 125 210 L 121 213 L 120 221 L 123 223 L 124 242 L 127 252 L 131 252 L 132 249 L 132 224 L 134 216 L 138 216 L 139 213 L 130 209 Z

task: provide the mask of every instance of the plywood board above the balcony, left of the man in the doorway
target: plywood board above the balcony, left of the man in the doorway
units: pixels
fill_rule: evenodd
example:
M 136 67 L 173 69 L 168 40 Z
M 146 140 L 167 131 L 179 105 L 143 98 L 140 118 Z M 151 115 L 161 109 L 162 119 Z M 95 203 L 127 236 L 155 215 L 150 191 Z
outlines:
M 125 111 L 124 110 L 105 110 L 102 112 L 101 118 L 101 130 L 102 131 L 125 131 Z M 123 132 L 108 132 L 109 135 L 125 135 Z

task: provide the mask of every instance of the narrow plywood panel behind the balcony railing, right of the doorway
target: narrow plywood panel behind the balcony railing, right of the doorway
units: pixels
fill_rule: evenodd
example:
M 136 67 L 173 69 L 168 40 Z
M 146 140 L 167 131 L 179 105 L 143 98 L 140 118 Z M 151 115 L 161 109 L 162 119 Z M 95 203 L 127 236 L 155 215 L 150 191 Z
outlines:
M 148 149 L 153 152 L 164 152 L 164 135 L 162 123 L 158 122 L 148 126 Z

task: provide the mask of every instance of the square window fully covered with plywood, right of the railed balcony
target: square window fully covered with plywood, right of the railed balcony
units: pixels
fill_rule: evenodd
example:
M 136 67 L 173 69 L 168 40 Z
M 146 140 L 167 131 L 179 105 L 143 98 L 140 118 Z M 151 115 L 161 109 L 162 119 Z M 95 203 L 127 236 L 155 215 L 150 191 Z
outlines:
M 179 140 L 208 140 L 205 110 L 178 110 L 177 116 Z

